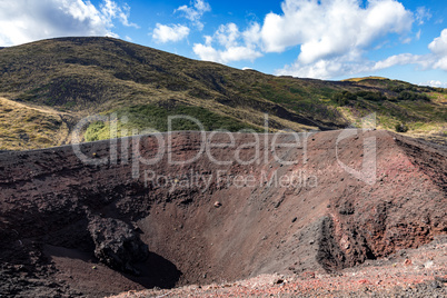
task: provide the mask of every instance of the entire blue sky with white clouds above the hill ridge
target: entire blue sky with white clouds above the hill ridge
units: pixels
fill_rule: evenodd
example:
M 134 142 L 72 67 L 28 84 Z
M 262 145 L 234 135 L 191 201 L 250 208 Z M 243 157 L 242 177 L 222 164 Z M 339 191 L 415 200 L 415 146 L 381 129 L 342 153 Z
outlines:
M 445 0 L 0 0 L 0 46 L 112 36 L 271 74 L 447 88 Z

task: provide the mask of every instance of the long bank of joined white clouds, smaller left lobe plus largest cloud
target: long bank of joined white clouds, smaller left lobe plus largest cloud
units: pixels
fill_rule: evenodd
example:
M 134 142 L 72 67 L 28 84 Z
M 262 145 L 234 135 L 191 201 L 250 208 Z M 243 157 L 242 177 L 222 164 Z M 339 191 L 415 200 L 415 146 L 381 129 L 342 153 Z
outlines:
M 281 13 L 270 12 L 262 23 L 251 23 L 245 31 L 235 23 L 220 26 L 213 36 L 205 37 L 205 43 L 195 43 L 193 51 L 202 60 L 227 63 L 296 48 L 296 61 L 276 73 L 320 79 L 410 61 L 423 64 L 417 56 L 401 54 L 374 62 L 364 54 L 391 33 L 399 34 L 401 41 L 410 40 L 406 34 L 415 18 L 424 22 L 430 18 L 429 11 L 419 8 L 413 13 L 397 0 L 369 0 L 366 6 L 360 2 L 285 0 Z

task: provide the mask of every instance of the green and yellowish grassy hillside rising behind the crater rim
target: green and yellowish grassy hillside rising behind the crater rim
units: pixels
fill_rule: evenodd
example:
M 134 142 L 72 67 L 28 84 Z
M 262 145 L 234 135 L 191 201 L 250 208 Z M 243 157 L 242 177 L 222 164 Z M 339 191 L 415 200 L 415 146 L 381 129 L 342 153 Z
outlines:
M 126 116 L 129 121 L 118 128 L 129 131 L 166 130 L 167 116 L 177 113 L 198 118 L 206 129 L 237 131 L 260 130 L 267 112 L 275 131 L 337 129 L 375 111 L 380 128 L 397 127 L 437 139 L 445 137 L 447 122 L 446 89 L 372 77 L 349 81 L 275 77 L 112 38 L 62 38 L 2 49 L 0 97 L 20 102 L 20 112 L 40 107 L 59 118 L 44 128 L 53 138 L 30 142 L 18 136 L 31 133 L 41 121 L 27 122 L 1 111 L 11 129 L 2 127 L 0 149 L 68 141 L 76 122 L 93 113 Z M 107 138 L 107 126 L 91 123 L 86 139 Z M 186 122 L 178 128 L 195 129 Z

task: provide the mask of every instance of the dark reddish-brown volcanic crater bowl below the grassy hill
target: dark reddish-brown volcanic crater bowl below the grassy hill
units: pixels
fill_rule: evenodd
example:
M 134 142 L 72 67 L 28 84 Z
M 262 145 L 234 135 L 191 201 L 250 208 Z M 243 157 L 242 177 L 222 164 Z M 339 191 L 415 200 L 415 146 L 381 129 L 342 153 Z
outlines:
M 315 276 L 344 284 L 346 268 L 393 267 L 380 261 L 447 235 L 445 148 L 375 130 L 298 137 L 173 132 L 0 153 L 0 294 L 102 297 L 277 272 L 305 295 Z M 447 274 L 436 256 L 431 280 Z

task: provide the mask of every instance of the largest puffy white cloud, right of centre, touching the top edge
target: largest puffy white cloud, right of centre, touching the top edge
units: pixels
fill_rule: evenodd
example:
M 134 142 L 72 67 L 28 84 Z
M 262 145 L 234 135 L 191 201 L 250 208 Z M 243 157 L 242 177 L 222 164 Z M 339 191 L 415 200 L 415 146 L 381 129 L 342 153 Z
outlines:
M 297 60 L 278 74 L 321 79 L 372 67 L 362 53 L 381 37 L 409 32 L 414 21 L 396 0 L 370 0 L 365 8 L 357 0 L 286 0 L 281 8 L 282 14 L 266 16 L 265 51 L 299 46 Z

